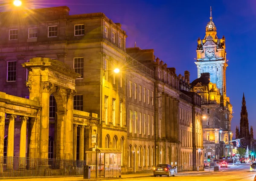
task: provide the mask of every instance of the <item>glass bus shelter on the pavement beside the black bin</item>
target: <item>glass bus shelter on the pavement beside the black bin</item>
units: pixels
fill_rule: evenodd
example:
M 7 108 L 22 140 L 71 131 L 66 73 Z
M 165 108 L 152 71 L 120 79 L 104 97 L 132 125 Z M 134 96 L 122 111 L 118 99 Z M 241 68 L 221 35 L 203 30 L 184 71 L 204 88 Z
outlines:
M 96 164 L 97 151 L 97 164 Z M 121 177 L 121 150 L 115 148 L 89 148 L 86 152 L 86 164 L 91 166 L 90 175 L 97 177 Z M 98 169 L 96 169 L 98 168 Z

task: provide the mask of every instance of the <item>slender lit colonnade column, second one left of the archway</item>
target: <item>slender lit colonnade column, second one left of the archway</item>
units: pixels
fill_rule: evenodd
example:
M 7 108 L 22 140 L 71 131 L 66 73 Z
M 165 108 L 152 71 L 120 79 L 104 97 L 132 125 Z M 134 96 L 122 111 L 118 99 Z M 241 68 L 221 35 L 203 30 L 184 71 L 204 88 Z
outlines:
M 7 156 L 13 156 L 14 153 L 14 122 L 17 117 L 14 114 L 8 115 L 9 126 L 8 126 L 8 141 L 7 141 Z

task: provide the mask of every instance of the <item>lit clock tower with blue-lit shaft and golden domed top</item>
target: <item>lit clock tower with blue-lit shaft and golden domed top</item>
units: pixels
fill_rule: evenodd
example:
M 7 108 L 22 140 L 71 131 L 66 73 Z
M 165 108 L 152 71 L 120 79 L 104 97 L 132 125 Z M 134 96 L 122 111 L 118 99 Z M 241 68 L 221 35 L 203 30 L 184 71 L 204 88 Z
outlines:
M 217 37 L 217 28 L 212 21 L 212 9 L 210 21 L 206 26 L 203 40 L 198 38 L 197 58 L 195 64 L 198 68 L 198 78 L 201 73 L 210 74 L 210 82 L 216 84 L 221 96 L 226 97 L 226 51 L 225 37 Z

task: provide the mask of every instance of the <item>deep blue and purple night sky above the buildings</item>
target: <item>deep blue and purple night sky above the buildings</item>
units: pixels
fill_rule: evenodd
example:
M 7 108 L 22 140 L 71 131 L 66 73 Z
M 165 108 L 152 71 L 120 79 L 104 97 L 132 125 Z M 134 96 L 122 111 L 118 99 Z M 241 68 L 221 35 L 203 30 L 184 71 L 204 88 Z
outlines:
M 6 1 L 0 0 L 0 3 Z M 54 3 L 52 3 L 54 2 Z M 71 3 L 72 2 L 72 3 Z M 240 125 L 243 92 L 249 126 L 256 131 L 253 82 L 256 60 L 255 0 L 30 0 L 29 8 L 68 6 L 70 14 L 103 12 L 115 23 L 121 23 L 128 34 L 126 47 L 154 49 L 154 54 L 175 67 L 176 73 L 190 72 L 190 82 L 197 78 L 195 65 L 198 37 L 205 35 L 209 21 L 217 27 L 217 36 L 226 38 L 227 96 L 233 105 L 231 130 Z M 2 7 L 3 8 L 3 7 Z M 0 11 L 3 11 L 0 9 Z M 250 85 L 250 86 L 249 86 Z M 251 87 L 252 86 L 252 87 Z

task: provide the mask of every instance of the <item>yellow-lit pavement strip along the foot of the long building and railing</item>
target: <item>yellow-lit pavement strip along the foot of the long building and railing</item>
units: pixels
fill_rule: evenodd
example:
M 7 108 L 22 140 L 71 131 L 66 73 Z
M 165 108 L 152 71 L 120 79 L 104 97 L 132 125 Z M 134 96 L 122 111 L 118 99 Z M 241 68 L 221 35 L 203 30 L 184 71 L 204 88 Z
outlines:
M 210 172 L 213 172 L 213 169 L 210 169 Z M 205 171 L 189 171 L 189 172 L 180 172 L 177 173 L 176 176 L 186 175 L 186 174 L 198 174 L 198 173 L 209 173 L 209 170 Z M 91 178 L 84 179 L 82 176 L 73 176 L 73 177 L 42 177 L 42 178 L 18 178 L 24 181 L 102 181 L 102 180 L 110 180 L 110 179 L 125 179 L 125 178 L 140 178 L 140 177 L 153 177 L 152 173 L 133 173 L 133 174 L 123 174 L 121 178 Z M 4 181 L 14 181 L 17 178 L 1 178 Z

